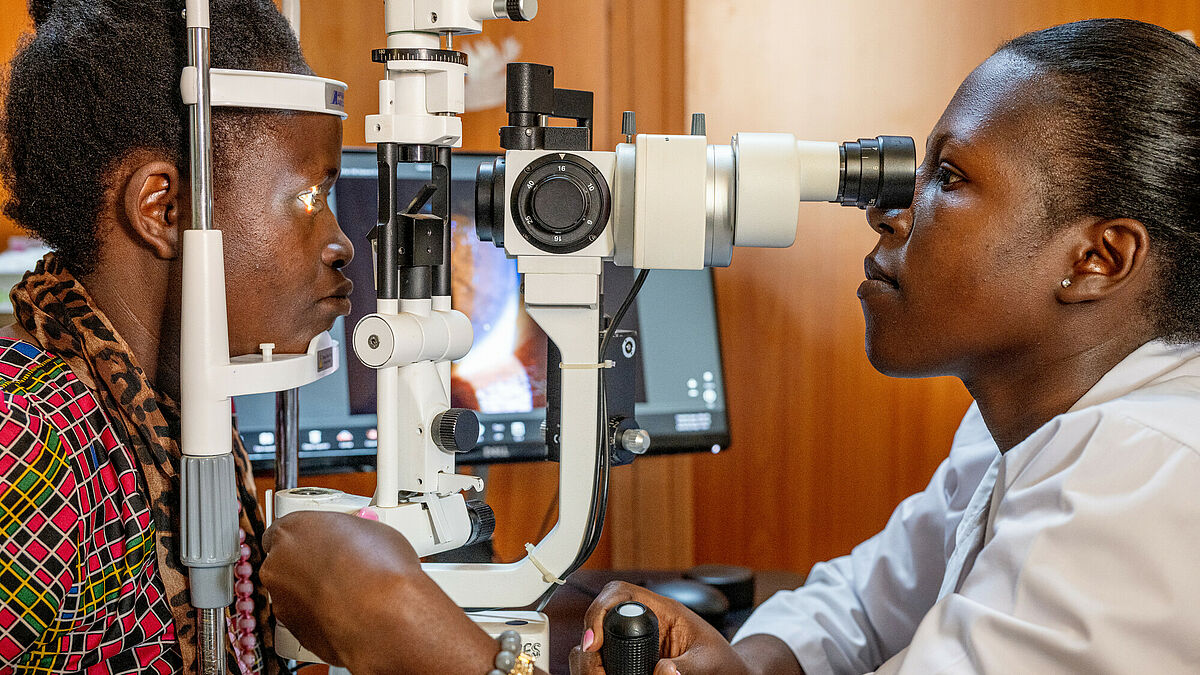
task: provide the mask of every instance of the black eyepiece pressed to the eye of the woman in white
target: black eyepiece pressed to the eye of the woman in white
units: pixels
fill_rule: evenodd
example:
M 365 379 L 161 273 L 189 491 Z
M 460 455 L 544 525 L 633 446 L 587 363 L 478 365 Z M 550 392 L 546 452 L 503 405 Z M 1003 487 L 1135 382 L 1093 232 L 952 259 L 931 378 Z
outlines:
M 841 144 L 835 202 L 860 209 L 907 209 L 916 186 L 917 144 L 912 138 L 878 136 Z

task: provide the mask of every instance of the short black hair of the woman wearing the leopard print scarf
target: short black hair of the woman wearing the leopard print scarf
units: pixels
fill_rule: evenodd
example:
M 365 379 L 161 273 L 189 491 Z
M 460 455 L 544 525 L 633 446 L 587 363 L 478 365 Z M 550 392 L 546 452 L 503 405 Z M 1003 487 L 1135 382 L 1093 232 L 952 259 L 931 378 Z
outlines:
M 136 153 L 174 163 L 190 195 L 182 0 L 30 0 L 25 35 L 4 83 L 4 213 L 58 251 L 76 275 L 100 259 L 100 214 L 114 169 Z M 211 0 L 211 67 L 312 74 L 271 0 Z M 218 186 L 240 148 L 286 113 L 215 108 Z M 139 155 L 140 156 L 140 155 Z

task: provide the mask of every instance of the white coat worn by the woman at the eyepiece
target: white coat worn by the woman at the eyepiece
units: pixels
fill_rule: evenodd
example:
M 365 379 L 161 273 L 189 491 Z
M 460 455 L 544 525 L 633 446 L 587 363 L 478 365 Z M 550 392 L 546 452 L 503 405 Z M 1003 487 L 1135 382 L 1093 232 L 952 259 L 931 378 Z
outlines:
M 1200 345 L 1153 341 L 1000 460 L 982 545 L 938 599 L 996 459 L 972 406 L 929 486 L 734 637 L 826 673 L 1200 673 Z

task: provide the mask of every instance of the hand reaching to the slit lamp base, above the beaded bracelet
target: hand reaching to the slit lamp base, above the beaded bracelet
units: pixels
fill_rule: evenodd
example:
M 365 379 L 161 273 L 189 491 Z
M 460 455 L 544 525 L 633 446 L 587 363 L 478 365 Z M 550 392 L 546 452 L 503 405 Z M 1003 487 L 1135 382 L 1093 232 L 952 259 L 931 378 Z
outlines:
M 300 643 L 355 675 L 486 673 L 490 638 L 421 572 L 408 540 L 379 522 L 300 512 L 263 537 L 260 578 Z

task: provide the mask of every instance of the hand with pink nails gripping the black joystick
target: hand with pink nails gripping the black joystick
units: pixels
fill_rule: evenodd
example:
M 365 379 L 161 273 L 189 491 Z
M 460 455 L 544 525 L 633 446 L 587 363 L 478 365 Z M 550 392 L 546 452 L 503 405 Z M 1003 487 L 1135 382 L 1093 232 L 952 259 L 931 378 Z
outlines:
M 738 652 L 707 621 L 676 601 L 624 581 L 605 586 L 583 616 L 582 644 L 571 651 L 572 675 L 604 674 L 600 647 L 604 644 L 605 614 L 629 601 L 644 604 L 659 619 L 662 659 L 654 675 L 751 675 Z

